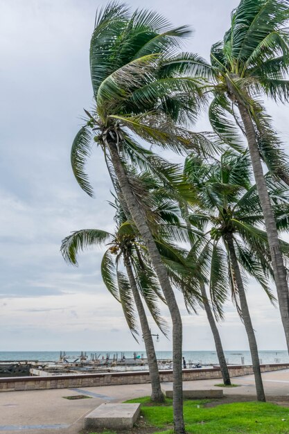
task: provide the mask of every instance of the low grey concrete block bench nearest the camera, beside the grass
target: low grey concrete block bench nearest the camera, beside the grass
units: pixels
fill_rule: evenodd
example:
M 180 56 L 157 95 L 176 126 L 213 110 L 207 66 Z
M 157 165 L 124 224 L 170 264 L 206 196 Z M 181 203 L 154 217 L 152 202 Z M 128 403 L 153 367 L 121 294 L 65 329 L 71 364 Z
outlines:
M 130 429 L 139 417 L 140 407 L 140 403 L 103 403 L 85 416 L 85 428 Z

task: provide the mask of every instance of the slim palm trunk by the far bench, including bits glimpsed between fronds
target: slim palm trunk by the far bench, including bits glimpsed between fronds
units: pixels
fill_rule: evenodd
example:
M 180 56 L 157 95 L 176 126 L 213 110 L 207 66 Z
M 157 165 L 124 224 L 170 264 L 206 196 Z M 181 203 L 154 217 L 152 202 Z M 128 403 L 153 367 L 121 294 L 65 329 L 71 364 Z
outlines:
M 189 209 L 188 209 L 186 204 L 180 205 L 179 207 L 183 211 L 184 220 L 186 221 L 186 227 L 187 227 L 188 231 L 190 231 L 191 230 L 191 223 L 189 222 Z M 191 240 L 190 240 L 190 244 L 191 244 L 191 248 L 192 248 L 193 242 Z M 211 331 L 213 333 L 213 340 L 215 342 L 218 361 L 220 364 L 222 381 L 224 382 L 225 385 L 231 385 L 229 370 L 227 367 L 224 350 L 222 349 L 222 341 L 220 338 L 220 333 L 218 331 L 218 327 L 216 325 L 215 318 L 213 318 L 213 313 L 211 311 L 211 306 L 209 304 L 209 300 L 207 297 L 206 288 L 205 288 L 204 283 L 202 281 L 200 282 L 200 289 L 201 289 L 201 294 L 202 294 L 202 298 L 203 298 L 204 311 L 206 312 L 206 315 L 207 315 L 207 318 L 208 318 L 208 321 L 209 321 L 209 324 L 211 327 Z

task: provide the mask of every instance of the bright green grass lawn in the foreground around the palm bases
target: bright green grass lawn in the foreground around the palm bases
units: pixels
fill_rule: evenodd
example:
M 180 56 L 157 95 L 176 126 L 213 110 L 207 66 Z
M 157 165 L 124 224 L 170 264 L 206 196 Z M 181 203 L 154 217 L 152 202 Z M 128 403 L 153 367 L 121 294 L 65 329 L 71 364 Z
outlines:
M 173 434 L 172 400 L 155 406 L 149 397 L 133 399 L 127 402 L 141 402 L 139 427 L 128 433 L 132 434 Z M 187 433 L 227 434 L 227 433 L 263 433 L 289 434 L 289 408 L 272 403 L 242 402 L 220 404 L 206 408 L 208 400 L 184 401 L 184 419 Z M 98 434 L 98 433 L 94 433 Z M 102 434 L 119 434 L 114 431 L 102 431 Z M 126 433 L 125 433 L 126 434 Z

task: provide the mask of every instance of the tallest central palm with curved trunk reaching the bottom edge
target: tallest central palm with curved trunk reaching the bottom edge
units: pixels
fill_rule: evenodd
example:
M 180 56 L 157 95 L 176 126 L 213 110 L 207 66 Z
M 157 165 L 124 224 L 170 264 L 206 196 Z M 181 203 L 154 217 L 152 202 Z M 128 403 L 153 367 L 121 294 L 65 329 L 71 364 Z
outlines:
M 148 249 L 173 322 L 173 411 L 177 434 L 184 433 L 182 318 L 152 229 L 143 214 L 141 198 L 130 183 L 124 163 L 138 159 L 154 168 L 146 149 L 137 143 L 137 136 L 148 144 L 178 152 L 194 147 L 211 152 L 211 141 L 204 135 L 182 128 L 188 117 L 193 120 L 198 114 L 202 102 L 198 80 L 180 77 L 164 67 L 170 64 L 170 56 L 178 49 L 182 37 L 189 33 L 186 26 L 172 28 L 166 19 L 147 10 L 131 14 L 117 3 L 100 10 L 90 46 L 95 105 L 87 112 L 87 125 L 76 135 L 71 150 L 74 175 L 82 189 L 91 195 L 84 165 L 94 142 L 102 148 Z

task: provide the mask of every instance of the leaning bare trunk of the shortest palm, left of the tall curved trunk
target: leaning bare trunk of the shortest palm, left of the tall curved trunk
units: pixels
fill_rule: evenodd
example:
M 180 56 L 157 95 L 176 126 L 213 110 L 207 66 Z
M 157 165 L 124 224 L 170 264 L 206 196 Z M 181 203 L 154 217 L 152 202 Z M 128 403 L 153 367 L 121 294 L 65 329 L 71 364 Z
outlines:
M 150 383 L 152 385 L 152 394 L 150 399 L 155 402 L 164 402 L 164 394 L 161 392 L 161 382 L 159 379 L 159 369 L 157 367 L 157 356 L 155 355 L 155 346 L 152 341 L 152 333 L 150 333 L 150 327 L 148 326 L 148 318 L 146 317 L 146 311 L 143 308 L 139 290 L 137 288 L 137 282 L 134 278 L 134 272 L 132 271 L 132 264 L 128 257 L 124 259 L 125 269 L 128 273 L 128 279 L 130 281 L 130 288 L 132 288 L 132 295 L 134 297 L 135 305 L 137 306 L 137 312 L 139 313 L 139 320 L 141 322 L 141 331 L 143 333 L 143 341 L 146 346 L 146 354 L 148 357 L 148 370 L 150 371 Z

